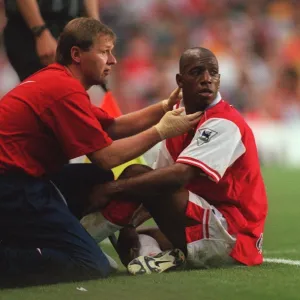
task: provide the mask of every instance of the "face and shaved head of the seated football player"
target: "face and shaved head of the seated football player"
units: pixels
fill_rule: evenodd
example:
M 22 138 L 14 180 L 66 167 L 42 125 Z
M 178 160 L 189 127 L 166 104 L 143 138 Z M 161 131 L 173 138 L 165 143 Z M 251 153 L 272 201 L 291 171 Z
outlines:
M 217 96 L 219 65 L 215 56 L 195 50 L 186 57 L 176 81 L 182 88 L 187 113 L 203 111 Z

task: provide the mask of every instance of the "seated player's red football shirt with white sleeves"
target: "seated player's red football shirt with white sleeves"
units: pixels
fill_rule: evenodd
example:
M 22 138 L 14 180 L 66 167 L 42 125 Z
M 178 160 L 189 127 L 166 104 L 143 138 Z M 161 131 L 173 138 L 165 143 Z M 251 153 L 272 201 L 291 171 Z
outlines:
M 182 163 L 201 170 L 186 188 L 215 206 L 237 239 L 231 256 L 246 265 L 262 263 L 267 196 L 252 130 L 218 95 L 195 132 L 162 143 L 156 168 Z

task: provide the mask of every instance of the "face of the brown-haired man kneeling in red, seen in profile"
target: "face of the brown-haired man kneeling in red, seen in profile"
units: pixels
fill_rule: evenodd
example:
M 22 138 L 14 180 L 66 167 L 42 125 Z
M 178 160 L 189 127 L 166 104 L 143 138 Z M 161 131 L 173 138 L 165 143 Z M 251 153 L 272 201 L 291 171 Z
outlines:
M 110 36 L 99 35 L 88 51 L 81 52 L 80 68 L 86 86 L 106 83 L 111 67 L 117 63 L 113 48 L 114 40 Z

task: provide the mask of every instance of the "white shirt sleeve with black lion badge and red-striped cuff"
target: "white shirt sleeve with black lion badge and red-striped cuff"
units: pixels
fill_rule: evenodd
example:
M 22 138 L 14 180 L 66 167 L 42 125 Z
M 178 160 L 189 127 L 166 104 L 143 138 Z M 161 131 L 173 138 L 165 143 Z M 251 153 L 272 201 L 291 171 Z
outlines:
M 212 118 L 197 129 L 176 162 L 196 166 L 218 182 L 245 151 L 238 126 L 226 119 Z

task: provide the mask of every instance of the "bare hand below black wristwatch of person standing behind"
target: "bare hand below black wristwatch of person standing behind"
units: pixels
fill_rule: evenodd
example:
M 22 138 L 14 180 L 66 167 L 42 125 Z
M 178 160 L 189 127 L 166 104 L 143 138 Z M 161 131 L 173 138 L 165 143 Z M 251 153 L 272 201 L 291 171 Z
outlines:
M 57 41 L 48 29 L 36 38 L 35 46 L 36 53 L 43 65 L 47 66 L 55 61 Z

